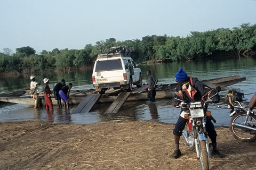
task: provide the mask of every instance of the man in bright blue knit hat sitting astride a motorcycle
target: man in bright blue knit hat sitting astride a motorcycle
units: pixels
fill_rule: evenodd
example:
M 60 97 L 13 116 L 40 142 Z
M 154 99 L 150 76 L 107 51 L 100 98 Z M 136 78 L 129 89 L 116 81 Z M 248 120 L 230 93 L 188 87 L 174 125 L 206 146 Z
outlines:
M 175 74 L 175 79 L 178 83 L 176 89 L 177 92 L 175 92 L 176 98 L 180 98 L 186 103 L 190 103 L 191 101 L 200 101 L 205 94 L 210 93 L 210 87 L 203 84 L 197 78 L 188 77 L 187 73 L 182 68 Z M 220 96 L 216 95 L 211 99 L 213 103 L 218 103 L 220 101 Z M 180 101 L 174 98 L 172 103 L 174 107 L 180 105 Z M 185 129 L 187 121 L 188 120 L 184 118 L 183 114 L 180 114 L 173 130 L 175 150 L 172 154 L 172 157 L 176 159 L 181 156 L 181 151 L 179 149 L 180 136 L 182 135 L 182 131 Z M 220 152 L 217 150 L 217 133 L 214 129 L 214 125 L 210 116 L 206 117 L 206 131 L 207 135 L 212 141 L 212 155 L 215 157 L 222 157 Z

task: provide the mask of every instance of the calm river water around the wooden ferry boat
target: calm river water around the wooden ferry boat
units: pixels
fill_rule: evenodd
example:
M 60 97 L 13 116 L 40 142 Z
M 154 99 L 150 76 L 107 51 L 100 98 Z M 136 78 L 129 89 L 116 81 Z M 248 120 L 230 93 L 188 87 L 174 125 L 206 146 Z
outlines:
M 158 78 L 158 84 L 175 83 L 174 74 L 182 67 L 191 77 L 197 77 L 199 80 L 207 80 L 213 78 L 227 77 L 230 75 L 239 75 L 246 77 L 246 81 L 233 84 L 227 88 L 223 88 L 220 92 L 221 102 L 219 107 L 211 105 L 209 110 L 212 112 L 216 126 L 227 126 L 230 120 L 230 110 L 224 102 L 227 89 L 236 89 L 245 94 L 245 99 L 250 98 L 255 93 L 256 83 L 256 56 L 254 57 L 214 57 L 200 61 L 192 62 L 174 62 L 166 64 L 142 64 L 139 65 L 142 70 L 143 83 L 147 83 L 146 71 L 151 72 Z M 67 83 L 73 83 L 72 90 L 91 89 L 92 86 L 92 70 L 75 71 L 75 72 L 47 72 L 44 74 L 36 74 L 36 78 L 41 77 L 50 79 L 50 88 L 61 79 L 65 79 Z M 21 77 L 4 77 L 0 78 L 0 92 L 13 91 L 17 89 L 29 88 L 30 75 L 22 75 Z M 37 79 L 38 80 L 38 79 Z M 43 81 L 39 86 L 42 89 Z M 54 99 L 53 99 L 54 100 Z M 142 121 L 155 120 L 164 123 L 176 123 L 180 110 L 173 109 L 171 99 L 159 99 L 155 103 L 150 101 L 130 101 L 126 102 L 117 114 L 104 114 L 110 103 L 96 104 L 90 113 L 71 114 L 76 106 L 69 109 L 59 109 L 54 107 L 53 111 L 46 111 L 45 107 L 35 109 L 31 106 L 14 104 L 0 105 L 0 121 L 27 121 L 27 120 L 43 120 L 53 123 L 83 123 L 91 124 L 108 121 Z

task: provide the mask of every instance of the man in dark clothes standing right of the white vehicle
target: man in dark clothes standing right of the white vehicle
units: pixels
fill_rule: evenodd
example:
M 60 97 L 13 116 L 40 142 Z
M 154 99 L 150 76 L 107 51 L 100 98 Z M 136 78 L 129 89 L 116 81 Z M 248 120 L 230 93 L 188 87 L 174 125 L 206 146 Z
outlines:
M 150 101 L 156 101 L 156 83 L 158 82 L 157 78 L 151 74 L 151 71 L 147 71 L 148 75 L 148 98 Z

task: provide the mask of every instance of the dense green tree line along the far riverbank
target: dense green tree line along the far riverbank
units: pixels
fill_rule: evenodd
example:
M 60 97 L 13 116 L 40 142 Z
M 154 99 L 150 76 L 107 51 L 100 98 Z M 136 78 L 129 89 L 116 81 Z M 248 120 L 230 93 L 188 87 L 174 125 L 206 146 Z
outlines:
M 191 31 L 187 37 L 146 36 L 142 39 L 116 41 L 115 38 L 87 44 L 84 49 L 43 50 L 36 54 L 31 47 L 17 48 L 15 53 L 4 48 L 0 53 L 0 72 L 41 71 L 55 67 L 69 69 L 79 65 L 91 65 L 99 50 L 115 46 L 134 47 L 133 60 L 137 62 L 169 59 L 193 60 L 209 56 L 214 52 L 246 54 L 256 51 L 256 24 L 244 23 L 233 29 L 197 32 Z

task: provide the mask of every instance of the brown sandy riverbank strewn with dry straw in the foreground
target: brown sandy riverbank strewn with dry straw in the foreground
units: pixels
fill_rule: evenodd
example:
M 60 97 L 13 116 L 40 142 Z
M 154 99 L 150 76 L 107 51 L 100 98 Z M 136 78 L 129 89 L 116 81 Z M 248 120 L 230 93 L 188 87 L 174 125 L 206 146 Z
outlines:
M 181 139 L 183 156 L 171 158 L 173 124 L 155 121 L 98 124 L 0 123 L 2 169 L 200 169 L 196 153 Z M 210 158 L 210 169 L 254 169 L 256 142 L 235 140 L 218 127 L 224 158 Z

